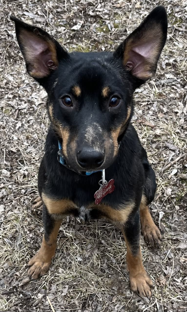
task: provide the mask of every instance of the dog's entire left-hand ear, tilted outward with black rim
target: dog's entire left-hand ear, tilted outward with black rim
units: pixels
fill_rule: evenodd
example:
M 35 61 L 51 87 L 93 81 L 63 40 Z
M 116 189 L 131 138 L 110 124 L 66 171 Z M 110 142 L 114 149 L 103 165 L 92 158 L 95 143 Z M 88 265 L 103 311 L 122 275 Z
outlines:
M 26 62 L 28 74 L 36 80 L 50 75 L 58 68 L 60 58 L 68 53 L 47 32 L 39 27 L 28 25 L 16 17 L 16 37 Z

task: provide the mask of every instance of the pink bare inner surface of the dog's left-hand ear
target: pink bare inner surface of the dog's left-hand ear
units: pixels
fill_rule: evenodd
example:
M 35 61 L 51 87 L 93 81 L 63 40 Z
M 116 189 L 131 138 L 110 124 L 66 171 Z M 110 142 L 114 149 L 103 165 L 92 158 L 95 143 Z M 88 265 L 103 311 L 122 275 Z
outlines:
M 25 48 L 25 58 L 31 64 L 31 75 L 45 77 L 49 69 L 57 69 L 55 64 L 55 49 L 51 51 L 51 44 L 47 40 L 27 31 L 22 31 L 22 44 Z

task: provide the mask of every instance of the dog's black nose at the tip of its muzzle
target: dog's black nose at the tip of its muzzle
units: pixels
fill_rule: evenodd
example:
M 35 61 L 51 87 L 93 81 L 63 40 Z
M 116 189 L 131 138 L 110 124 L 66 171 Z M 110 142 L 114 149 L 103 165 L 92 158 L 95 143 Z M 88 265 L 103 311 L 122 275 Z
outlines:
M 104 161 L 104 153 L 95 149 L 83 148 L 77 153 L 77 161 L 82 168 L 98 168 Z

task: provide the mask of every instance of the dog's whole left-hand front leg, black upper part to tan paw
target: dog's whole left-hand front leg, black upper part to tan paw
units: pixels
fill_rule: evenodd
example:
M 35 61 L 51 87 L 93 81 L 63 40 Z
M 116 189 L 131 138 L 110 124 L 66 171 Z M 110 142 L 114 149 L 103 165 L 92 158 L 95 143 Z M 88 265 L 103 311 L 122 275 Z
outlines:
M 56 238 L 62 220 L 55 220 L 43 204 L 42 218 L 44 224 L 44 237 L 40 250 L 28 263 L 30 269 L 28 275 L 31 279 L 37 279 L 45 274 L 50 267 L 51 260 L 55 256 Z

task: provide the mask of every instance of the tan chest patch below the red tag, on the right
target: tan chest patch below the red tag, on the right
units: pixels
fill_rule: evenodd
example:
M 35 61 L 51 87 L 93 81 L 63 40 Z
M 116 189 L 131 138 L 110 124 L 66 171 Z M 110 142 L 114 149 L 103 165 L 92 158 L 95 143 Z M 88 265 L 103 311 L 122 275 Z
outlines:
M 95 208 L 107 215 L 110 220 L 125 223 L 134 208 L 134 202 L 124 204 L 120 207 L 120 210 L 113 209 L 104 204 L 100 204 Z

